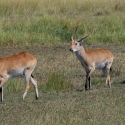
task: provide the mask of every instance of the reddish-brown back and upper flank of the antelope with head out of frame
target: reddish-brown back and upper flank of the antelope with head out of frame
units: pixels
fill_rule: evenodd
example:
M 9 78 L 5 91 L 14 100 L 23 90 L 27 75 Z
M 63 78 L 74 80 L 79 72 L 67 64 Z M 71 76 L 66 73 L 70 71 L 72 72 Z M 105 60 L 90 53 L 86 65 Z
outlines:
M 0 67 L 7 70 L 25 68 L 30 65 L 36 65 L 36 63 L 36 57 L 25 51 L 0 58 Z

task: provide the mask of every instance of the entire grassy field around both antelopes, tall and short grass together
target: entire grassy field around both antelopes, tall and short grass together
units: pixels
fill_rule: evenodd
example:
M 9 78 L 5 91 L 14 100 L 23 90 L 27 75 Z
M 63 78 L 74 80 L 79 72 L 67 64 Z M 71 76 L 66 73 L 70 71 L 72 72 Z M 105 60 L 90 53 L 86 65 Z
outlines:
M 28 51 L 38 59 L 34 70 L 39 88 L 26 98 L 24 78 L 4 85 L 0 125 L 123 125 L 125 124 L 125 2 L 123 0 L 0 0 L 0 57 Z M 115 56 L 112 88 L 104 87 L 101 71 L 85 71 L 69 51 L 70 37 L 91 30 L 85 49 L 107 48 Z

